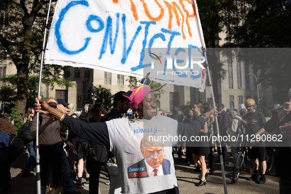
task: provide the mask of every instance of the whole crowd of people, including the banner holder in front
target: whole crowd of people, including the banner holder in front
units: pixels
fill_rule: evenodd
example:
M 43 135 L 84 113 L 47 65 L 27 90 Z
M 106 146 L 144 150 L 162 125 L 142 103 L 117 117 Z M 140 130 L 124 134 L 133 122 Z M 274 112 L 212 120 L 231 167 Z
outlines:
M 288 99 L 291 100 L 291 89 Z M 224 165 L 228 165 L 229 157 L 233 157 L 235 161 L 241 142 L 223 141 L 220 150 L 216 142 L 213 144 L 200 141 L 190 144 L 175 140 L 153 142 L 149 139 L 165 134 L 209 137 L 218 135 L 218 129 L 221 136 L 238 134 L 256 136 L 256 146 L 248 148 L 248 157 L 254 170 L 254 174 L 248 180 L 264 184 L 265 145 L 259 136 L 266 131 L 277 132 L 283 135 L 285 142 L 291 142 L 291 114 L 288 114 L 291 110 L 290 102 L 285 102 L 282 109 L 272 111 L 264 109 L 261 112 L 257 110 L 255 100 L 250 98 L 245 101 L 246 109 L 226 112 L 224 104 L 217 104 L 215 111 L 214 105 L 209 107 L 210 104 L 205 99 L 200 99 L 192 108 L 188 108 L 184 115 L 179 114 L 178 107 L 173 107 L 171 115 L 162 110 L 156 114 L 154 92 L 146 86 L 116 93 L 112 109 L 105 110 L 102 100 L 97 99 L 95 104 L 86 104 L 80 115 L 75 114 L 74 110 L 69 111 L 69 104 L 64 99 L 42 100 L 39 97 L 38 100 L 39 103 L 28 109 L 27 122 L 18 130 L 17 135 L 23 139 L 29 151 L 29 160 L 22 176 L 32 176 L 33 173 L 30 171 L 35 171 L 36 166 L 37 122 L 34 111 L 39 112 L 38 141 L 42 194 L 49 184 L 56 188 L 62 187 L 64 194 L 78 193 L 73 190 L 72 179 L 75 178 L 76 188 L 89 186 L 89 193 L 96 194 L 102 166 L 107 170 L 106 184 L 110 185 L 109 194 L 178 194 L 173 153 L 177 149 L 177 160 L 184 160 L 182 159 L 184 147 L 185 165 L 195 165 L 195 170 L 201 172 L 200 180 L 195 186 L 206 185 L 207 177 L 216 170 L 214 163 L 223 162 Z M 129 108 L 132 112 L 129 112 Z M 215 124 L 215 117 L 218 125 Z M 8 148 L 9 136 L 15 133 L 10 119 L 0 118 L 0 169 L 3 169 L 0 186 L 4 194 L 11 193 L 12 161 Z M 229 146 L 230 156 L 227 152 Z M 223 155 L 223 161 L 218 158 L 218 161 L 214 162 L 217 152 L 218 155 Z M 291 143 L 289 147 L 278 148 L 277 158 L 280 165 L 277 163 L 276 173 L 280 177 L 280 193 L 291 191 L 289 176 L 291 169 L 286 158 L 290 155 L 286 153 L 291 154 Z M 208 157 L 209 169 L 205 157 Z

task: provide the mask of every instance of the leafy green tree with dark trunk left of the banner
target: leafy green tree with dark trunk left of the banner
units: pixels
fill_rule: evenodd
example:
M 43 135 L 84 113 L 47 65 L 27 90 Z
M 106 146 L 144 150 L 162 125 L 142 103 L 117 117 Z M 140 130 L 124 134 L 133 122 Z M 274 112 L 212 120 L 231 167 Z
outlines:
M 56 1 L 56 0 L 52 0 Z M 4 88 L 5 98 L 15 100 L 17 103 L 18 118 L 22 119 L 27 107 L 27 101 L 30 101 L 31 87 L 35 85 L 36 77 L 32 76 L 38 73 L 40 65 L 40 54 L 43 41 L 43 33 L 48 9 L 48 0 L 1 0 L 0 1 L 0 43 L 3 50 L 7 51 L 7 61 L 12 61 L 16 66 L 17 74 L 11 77 L 5 77 Z M 54 7 L 54 6 L 52 6 Z M 51 16 L 53 13 L 51 9 Z M 56 69 L 62 67 L 54 65 L 44 66 L 43 83 L 60 84 L 70 86 L 71 84 L 56 74 Z M 31 77 L 32 76 L 32 77 Z M 11 81 L 11 83 L 9 83 Z M 32 81 L 32 82 L 31 82 Z M 33 86 L 32 86 L 33 85 Z M 14 91 L 12 91 L 12 88 Z M 16 94 L 15 94 L 16 89 Z M 11 102 L 11 101 L 10 101 Z M 30 104 L 31 105 L 31 104 Z

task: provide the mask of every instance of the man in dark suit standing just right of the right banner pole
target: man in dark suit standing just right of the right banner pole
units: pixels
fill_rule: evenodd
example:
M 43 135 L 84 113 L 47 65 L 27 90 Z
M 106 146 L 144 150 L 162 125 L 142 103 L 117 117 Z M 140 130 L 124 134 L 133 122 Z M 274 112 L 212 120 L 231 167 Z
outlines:
M 225 109 L 225 105 L 222 104 L 222 103 L 219 103 L 217 105 L 217 108 L 218 108 L 218 127 L 219 127 L 219 135 L 220 136 L 227 136 L 227 133 L 226 133 L 226 129 L 227 129 L 227 126 L 229 125 L 229 121 L 230 121 L 230 118 L 227 114 L 227 112 L 224 110 Z M 215 125 L 215 129 L 216 129 L 216 125 Z M 216 129 L 216 132 L 217 132 L 217 129 Z M 228 157 L 227 157 L 227 145 L 226 145 L 226 142 L 222 141 L 221 143 L 221 153 L 223 155 L 223 159 L 224 159 L 224 163 L 226 165 L 228 165 Z M 215 163 L 220 163 L 220 158 L 218 158 L 218 161 L 216 161 Z

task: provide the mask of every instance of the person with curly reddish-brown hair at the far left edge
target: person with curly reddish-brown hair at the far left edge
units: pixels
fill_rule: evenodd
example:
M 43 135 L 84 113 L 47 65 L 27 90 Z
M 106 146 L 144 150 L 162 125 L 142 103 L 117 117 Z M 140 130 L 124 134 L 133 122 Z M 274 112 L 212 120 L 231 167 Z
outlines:
M 11 159 L 8 155 L 9 138 L 15 134 L 15 128 L 8 117 L 0 118 L 0 186 L 3 194 L 11 193 Z

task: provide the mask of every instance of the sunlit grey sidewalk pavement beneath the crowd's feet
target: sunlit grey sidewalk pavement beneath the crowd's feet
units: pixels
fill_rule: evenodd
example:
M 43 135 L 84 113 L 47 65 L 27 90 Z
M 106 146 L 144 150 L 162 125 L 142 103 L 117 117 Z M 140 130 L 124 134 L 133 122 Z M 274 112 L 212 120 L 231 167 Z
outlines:
M 230 151 L 230 149 L 229 149 Z M 185 155 L 182 156 L 185 159 Z M 214 158 L 216 161 L 217 158 Z M 35 172 L 34 176 L 22 178 L 22 169 L 24 168 L 28 160 L 28 153 L 22 154 L 16 161 L 12 162 L 11 165 L 11 189 L 13 194 L 34 194 L 35 187 Z M 201 187 L 195 187 L 195 183 L 199 182 L 199 172 L 196 172 L 193 166 L 186 166 L 183 161 L 178 161 L 177 152 L 174 153 L 176 176 L 179 184 L 180 194 L 221 194 L 224 192 L 224 185 L 221 173 L 220 164 L 215 164 L 217 169 L 212 175 L 207 178 L 207 185 Z M 207 161 L 207 157 L 206 157 Z M 250 177 L 251 174 L 242 170 L 238 181 L 232 184 L 232 170 L 233 169 L 233 158 L 229 158 L 229 165 L 226 165 L 226 187 L 228 194 L 278 194 L 279 193 L 279 178 L 275 174 L 275 169 L 266 175 L 266 183 L 259 185 L 255 181 L 247 181 L 246 178 Z M 249 161 L 250 162 L 250 161 Z M 208 163 L 208 162 L 206 162 Z M 249 164 L 247 164 L 249 165 Z M 209 168 L 208 168 L 209 169 Z M 105 168 L 102 167 L 99 181 L 99 194 L 108 194 L 109 186 L 105 185 L 107 182 L 107 173 Z M 85 176 L 83 176 L 85 177 Z M 73 179 L 75 183 L 77 179 Z M 85 179 L 83 179 L 83 182 Z M 92 183 L 90 183 L 92 184 Z M 89 194 L 89 187 L 83 187 L 83 189 L 77 189 L 75 191 L 81 192 L 81 194 Z M 1 189 L 0 189 L 1 192 Z

